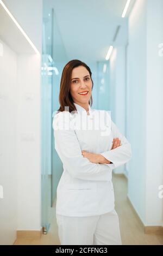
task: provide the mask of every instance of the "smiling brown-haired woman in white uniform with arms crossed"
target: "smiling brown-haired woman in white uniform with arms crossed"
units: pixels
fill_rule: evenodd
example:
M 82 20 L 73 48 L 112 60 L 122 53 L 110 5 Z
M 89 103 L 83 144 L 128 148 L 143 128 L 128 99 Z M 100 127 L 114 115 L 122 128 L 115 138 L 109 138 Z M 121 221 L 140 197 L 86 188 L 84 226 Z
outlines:
M 53 118 L 55 150 L 64 167 L 56 205 L 61 245 L 122 244 L 111 177 L 112 169 L 131 158 L 131 146 L 108 111 L 91 108 L 91 75 L 78 59 L 66 64 Z

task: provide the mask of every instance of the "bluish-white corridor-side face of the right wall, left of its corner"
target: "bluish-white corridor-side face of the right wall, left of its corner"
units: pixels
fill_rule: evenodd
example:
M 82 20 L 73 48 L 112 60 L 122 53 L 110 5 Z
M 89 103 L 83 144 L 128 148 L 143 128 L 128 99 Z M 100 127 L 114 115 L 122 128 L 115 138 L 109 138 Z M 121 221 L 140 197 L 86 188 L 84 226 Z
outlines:
M 137 0 L 129 17 L 127 136 L 133 157 L 128 169 L 128 197 L 145 222 L 146 190 L 146 0 Z

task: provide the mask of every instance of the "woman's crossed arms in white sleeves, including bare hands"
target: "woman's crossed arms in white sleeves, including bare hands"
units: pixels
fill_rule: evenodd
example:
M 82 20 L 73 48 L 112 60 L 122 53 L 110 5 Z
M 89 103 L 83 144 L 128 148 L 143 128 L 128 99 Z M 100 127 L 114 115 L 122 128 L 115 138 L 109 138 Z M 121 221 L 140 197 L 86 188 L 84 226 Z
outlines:
M 69 124 L 69 117 L 63 121 L 63 115 L 67 115 L 67 113 L 60 112 L 54 116 L 53 128 L 55 150 L 63 165 L 66 166 L 66 170 L 74 178 L 92 181 L 110 181 L 112 169 L 128 162 L 131 157 L 131 147 L 127 139 L 118 131 L 116 125 L 112 122 L 113 136 L 114 138 L 120 138 L 122 145 L 118 146 L 120 141 L 118 144 L 115 139 L 112 150 L 100 154 L 93 154 L 86 151 L 81 152 L 79 141 L 73 127 L 70 127 L 70 129 L 59 128 L 63 124 L 67 126 Z

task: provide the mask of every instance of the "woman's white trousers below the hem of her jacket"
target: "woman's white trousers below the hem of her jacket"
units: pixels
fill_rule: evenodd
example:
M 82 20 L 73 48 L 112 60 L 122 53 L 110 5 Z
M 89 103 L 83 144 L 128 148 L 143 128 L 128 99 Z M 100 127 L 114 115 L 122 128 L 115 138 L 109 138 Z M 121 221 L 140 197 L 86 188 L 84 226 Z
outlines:
M 122 245 L 115 210 L 103 215 L 69 217 L 56 213 L 60 245 Z

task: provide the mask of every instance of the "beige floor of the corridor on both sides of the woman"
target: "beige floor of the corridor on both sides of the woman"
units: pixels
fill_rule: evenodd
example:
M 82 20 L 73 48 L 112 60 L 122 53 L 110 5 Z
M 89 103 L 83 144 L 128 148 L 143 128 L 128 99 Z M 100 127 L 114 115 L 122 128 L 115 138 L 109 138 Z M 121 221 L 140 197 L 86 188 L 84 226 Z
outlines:
M 163 245 L 163 236 L 144 234 L 143 227 L 127 200 L 127 180 L 123 176 L 113 176 L 116 211 L 120 219 L 123 245 Z M 52 209 L 51 228 L 41 239 L 17 239 L 14 245 L 60 245 L 55 209 Z

